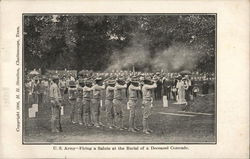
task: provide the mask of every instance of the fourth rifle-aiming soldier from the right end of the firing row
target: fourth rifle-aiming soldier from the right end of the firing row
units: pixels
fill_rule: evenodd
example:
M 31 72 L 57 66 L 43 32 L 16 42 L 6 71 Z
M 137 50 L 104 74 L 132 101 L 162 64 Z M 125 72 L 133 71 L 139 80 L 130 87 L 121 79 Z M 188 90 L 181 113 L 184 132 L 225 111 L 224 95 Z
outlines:
M 114 128 L 114 107 L 113 107 L 113 99 L 114 99 L 114 90 L 115 90 L 115 80 L 108 80 L 106 88 L 106 117 L 107 117 L 107 126 L 110 129 Z

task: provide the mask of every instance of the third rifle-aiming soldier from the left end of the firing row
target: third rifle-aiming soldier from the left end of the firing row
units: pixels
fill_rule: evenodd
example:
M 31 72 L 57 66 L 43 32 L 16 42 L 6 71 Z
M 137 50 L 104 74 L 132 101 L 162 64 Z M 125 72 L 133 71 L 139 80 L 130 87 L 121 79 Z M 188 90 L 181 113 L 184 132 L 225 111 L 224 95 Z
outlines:
M 92 82 L 87 78 L 84 79 L 84 87 L 83 87 L 83 116 L 84 123 L 86 126 L 92 126 L 92 118 L 91 118 L 91 96 L 92 96 Z

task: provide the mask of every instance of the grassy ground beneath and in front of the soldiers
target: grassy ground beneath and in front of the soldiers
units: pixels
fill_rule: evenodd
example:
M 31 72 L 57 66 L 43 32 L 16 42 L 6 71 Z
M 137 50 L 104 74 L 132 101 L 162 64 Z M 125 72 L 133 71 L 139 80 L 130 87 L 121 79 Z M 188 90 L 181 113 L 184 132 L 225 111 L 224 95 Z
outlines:
M 140 103 L 140 102 L 139 102 Z M 140 104 L 139 104 L 140 105 Z M 139 132 L 126 130 L 110 130 L 106 127 L 87 128 L 71 124 L 69 120 L 69 105 L 65 106 L 62 116 L 63 132 L 50 132 L 49 105 L 39 107 L 36 118 L 26 118 L 24 125 L 24 143 L 215 143 L 215 100 L 214 94 L 199 95 L 193 102 L 189 112 L 182 112 L 182 105 L 169 101 L 169 107 L 163 108 L 162 101 L 154 101 L 152 115 L 149 119 L 150 135 L 142 133 L 142 113 L 137 109 L 136 124 Z M 190 113 L 191 112 L 191 113 Z M 199 113 L 193 113 L 199 112 Z M 125 110 L 125 126 L 128 127 L 129 110 Z M 105 123 L 105 112 L 101 112 Z

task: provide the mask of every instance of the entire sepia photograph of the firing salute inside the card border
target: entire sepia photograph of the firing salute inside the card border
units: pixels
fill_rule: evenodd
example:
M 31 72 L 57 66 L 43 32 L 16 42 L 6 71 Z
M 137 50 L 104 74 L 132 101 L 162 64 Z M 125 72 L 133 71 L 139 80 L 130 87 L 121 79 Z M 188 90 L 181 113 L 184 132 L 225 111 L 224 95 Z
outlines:
M 216 18 L 23 14 L 23 144 L 216 144 Z

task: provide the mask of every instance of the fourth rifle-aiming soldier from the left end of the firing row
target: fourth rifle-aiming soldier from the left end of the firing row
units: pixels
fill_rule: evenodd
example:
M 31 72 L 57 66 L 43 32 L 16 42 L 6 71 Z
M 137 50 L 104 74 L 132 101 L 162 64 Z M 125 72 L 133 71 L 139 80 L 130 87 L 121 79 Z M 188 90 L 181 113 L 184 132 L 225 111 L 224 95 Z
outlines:
M 101 90 L 105 89 L 105 85 L 102 85 L 102 78 L 97 77 L 95 79 L 95 84 L 92 87 L 93 97 L 92 97 L 92 117 L 94 120 L 94 126 L 100 127 L 103 124 L 100 122 L 100 107 L 101 107 Z

